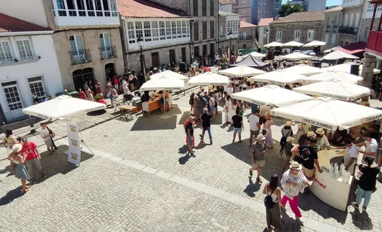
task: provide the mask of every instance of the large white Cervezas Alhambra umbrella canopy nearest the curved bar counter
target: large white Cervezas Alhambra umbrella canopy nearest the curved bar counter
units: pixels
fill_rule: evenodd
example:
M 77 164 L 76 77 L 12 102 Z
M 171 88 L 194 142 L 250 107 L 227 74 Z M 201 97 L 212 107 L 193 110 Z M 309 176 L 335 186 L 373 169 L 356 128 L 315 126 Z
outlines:
M 309 123 L 328 130 L 348 129 L 382 118 L 382 110 L 336 100 L 318 97 L 294 105 L 271 110 L 272 115 Z

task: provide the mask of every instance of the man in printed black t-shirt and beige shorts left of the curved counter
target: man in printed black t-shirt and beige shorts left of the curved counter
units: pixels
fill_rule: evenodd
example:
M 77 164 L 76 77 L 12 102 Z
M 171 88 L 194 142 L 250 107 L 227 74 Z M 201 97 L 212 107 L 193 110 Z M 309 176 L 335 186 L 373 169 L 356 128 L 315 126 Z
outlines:
M 313 178 L 314 175 L 314 164 L 316 164 L 318 171 L 322 173 L 320 164 L 317 160 L 317 152 L 314 149 L 315 145 L 317 145 L 317 139 L 312 137 L 308 139 L 307 145 L 303 145 L 298 149 L 298 156 L 300 157 L 299 161 L 302 165 L 302 173 L 304 173 L 306 179 L 309 181 Z

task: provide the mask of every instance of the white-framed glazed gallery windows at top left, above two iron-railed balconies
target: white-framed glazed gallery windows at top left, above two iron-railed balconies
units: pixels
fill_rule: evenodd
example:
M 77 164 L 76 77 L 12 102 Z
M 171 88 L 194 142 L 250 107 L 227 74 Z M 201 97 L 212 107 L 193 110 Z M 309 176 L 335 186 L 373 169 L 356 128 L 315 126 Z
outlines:
M 53 15 L 56 16 L 98 16 L 98 17 L 117 17 L 116 0 L 51 0 Z

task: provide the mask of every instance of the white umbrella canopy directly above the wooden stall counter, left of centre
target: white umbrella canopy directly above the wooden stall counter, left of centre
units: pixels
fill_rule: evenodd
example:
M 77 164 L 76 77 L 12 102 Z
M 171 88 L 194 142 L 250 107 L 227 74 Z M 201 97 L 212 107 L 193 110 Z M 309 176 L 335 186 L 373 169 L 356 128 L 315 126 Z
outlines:
M 142 84 L 141 91 L 150 90 L 181 90 L 185 87 L 185 81 L 172 77 L 158 77 Z

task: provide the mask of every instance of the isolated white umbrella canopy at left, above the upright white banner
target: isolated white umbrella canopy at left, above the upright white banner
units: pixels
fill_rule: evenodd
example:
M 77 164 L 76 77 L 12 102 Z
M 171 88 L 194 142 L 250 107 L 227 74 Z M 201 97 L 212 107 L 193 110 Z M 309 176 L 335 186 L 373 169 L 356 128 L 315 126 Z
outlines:
M 56 120 L 104 108 L 106 108 L 106 105 L 103 103 L 62 95 L 24 108 L 22 112 L 39 118 Z

